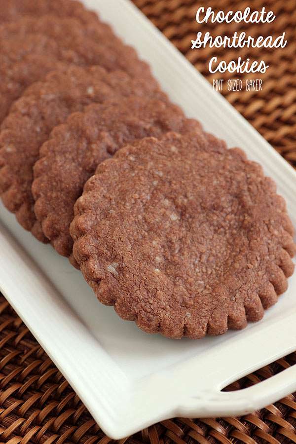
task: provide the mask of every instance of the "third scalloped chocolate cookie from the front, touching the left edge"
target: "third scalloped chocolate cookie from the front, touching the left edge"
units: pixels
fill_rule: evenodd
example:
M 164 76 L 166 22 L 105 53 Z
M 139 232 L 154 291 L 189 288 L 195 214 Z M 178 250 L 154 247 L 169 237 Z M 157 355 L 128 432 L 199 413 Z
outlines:
M 90 103 L 130 95 L 167 100 L 153 79 L 147 82 L 122 71 L 108 73 L 98 66 L 71 66 L 34 83 L 12 105 L 0 132 L 0 194 L 6 208 L 40 241 L 48 239 L 36 220 L 31 191 L 40 146 L 71 113 L 83 111 Z

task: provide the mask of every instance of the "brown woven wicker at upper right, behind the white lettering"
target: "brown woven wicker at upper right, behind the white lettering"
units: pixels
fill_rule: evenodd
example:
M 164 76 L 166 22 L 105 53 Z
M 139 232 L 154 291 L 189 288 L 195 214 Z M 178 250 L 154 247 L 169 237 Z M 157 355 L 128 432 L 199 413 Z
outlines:
M 262 91 L 227 91 L 223 95 L 249 120 L 261 135 L 290 163 L 296 166 L 296 0 L 134 0 L 149 19 L 187 57 L 187 59 L 212 83 L 213 78 L 260 78 Z M 195 20 L 199 6 L 211 6 L 214 11 L 260 10 L 265 6 L 276 19 L 266 24 L 203 23 Z M 288 44 L 276 49 L 191 49 L 191 40 L 197 32 L 209 31 L 212 36 L 232 36 L 235 31 L 247 35 L 279 36 L 286 33 Z M 239 56 L 246 60 L 264 60 L 269 68 L 265 74 L 210 74 L 211 57 L 227 63 Z

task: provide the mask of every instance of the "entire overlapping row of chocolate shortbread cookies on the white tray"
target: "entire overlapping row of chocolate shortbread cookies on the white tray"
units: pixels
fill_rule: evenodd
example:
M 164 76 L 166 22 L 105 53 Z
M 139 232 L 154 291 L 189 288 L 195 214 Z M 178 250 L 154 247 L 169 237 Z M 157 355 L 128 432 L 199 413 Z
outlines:
M 258 321 L 294 271 L 261 167 L 185 117 L 73 0 L 0 0 L 0 193 L 98 299 L 148 333 Z

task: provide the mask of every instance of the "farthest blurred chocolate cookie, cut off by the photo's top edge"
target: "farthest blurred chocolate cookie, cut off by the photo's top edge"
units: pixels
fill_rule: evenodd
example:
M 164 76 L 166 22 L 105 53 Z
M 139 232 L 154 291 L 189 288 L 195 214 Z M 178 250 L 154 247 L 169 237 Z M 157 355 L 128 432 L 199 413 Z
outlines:
M 54 14 L 58 17 L 75 17 L 86 25 L 98 21 L 98 16 L 75 0 L 0 0 L 0 23 L 18 20 L 21 16 Z

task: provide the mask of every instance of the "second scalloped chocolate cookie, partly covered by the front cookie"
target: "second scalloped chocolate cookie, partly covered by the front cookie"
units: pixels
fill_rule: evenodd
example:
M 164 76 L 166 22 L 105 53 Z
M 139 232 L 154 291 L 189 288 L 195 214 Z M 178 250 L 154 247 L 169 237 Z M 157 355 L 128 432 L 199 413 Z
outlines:
M 74 203 L 97 165 L 126 143 L 168 131 L 201 129 L 176 105 L 135 96 L 89 105 L 52 131 L 40 148 L 32 191 L 37 220 L 58 253 L 72 259 Z

